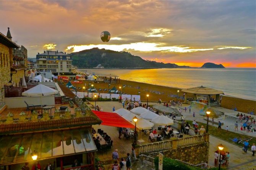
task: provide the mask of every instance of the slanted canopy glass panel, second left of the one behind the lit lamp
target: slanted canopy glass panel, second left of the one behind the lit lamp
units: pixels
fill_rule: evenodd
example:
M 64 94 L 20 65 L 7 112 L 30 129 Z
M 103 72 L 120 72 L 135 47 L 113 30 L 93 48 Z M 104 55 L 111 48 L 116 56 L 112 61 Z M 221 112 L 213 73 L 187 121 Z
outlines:
M 6 153 L 5 157 L 3 158 L 3 164 L 5 164 L 7 162 L 13 162 L 16 152 L 18 151 L 21 138 L 22 138 L 21 135 L 13 136 L 13 138 L 11 139 L 9 148 L 7 150 L 7 153 Z

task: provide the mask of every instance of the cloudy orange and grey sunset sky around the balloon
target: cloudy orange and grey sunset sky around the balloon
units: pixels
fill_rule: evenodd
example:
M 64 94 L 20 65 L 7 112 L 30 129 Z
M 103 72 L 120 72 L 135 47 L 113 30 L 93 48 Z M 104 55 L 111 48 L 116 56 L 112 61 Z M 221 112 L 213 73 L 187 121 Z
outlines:
M 28 57 L 98 47 L 190 67 L 256 67 L 255 0 L 2 0 L 0 21 Z

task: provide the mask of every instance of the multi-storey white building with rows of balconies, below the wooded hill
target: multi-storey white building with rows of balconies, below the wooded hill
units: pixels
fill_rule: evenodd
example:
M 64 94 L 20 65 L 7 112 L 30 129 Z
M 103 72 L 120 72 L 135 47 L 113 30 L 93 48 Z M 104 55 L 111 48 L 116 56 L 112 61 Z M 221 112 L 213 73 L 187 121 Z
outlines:
M 51 71 L 54 75 L 68 75 L 72 71 L 72 59 L 66 52 L 44 51 L 36 55 L 37 71 Z

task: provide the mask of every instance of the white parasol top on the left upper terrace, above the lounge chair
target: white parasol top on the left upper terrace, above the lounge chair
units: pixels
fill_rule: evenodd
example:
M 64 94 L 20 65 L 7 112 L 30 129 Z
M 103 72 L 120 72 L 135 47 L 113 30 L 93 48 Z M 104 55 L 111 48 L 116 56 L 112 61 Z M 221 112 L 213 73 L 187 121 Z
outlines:
M 39 84 L 27 91 L 24 91 L 22 95 L 23 96 L 42 96 L 42 95 L 55 95 L 58 93 L 59 91 L 55 89 Z

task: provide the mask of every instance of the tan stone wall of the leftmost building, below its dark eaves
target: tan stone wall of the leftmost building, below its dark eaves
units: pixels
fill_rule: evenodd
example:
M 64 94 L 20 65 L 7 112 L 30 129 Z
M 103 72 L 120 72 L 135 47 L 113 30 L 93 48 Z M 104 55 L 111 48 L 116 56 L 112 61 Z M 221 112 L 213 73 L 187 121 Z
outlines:
M 3 86 L 10 80 L 10 51 L 7 46 L 0 43 L 0 109 L 5 105 Z

